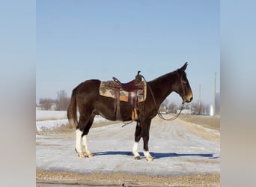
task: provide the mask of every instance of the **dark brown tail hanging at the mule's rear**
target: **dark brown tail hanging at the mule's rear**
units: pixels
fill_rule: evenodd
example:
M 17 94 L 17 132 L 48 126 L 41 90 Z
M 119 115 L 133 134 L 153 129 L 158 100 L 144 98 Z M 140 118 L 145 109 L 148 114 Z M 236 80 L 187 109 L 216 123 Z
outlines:
M 70 105 L 67 108 L 67 119 L 73 127 L 78 124 L 77 121 L 77 111 L 76 111 L 76 88 L 72 91 L 72 96 L 70 99 Z

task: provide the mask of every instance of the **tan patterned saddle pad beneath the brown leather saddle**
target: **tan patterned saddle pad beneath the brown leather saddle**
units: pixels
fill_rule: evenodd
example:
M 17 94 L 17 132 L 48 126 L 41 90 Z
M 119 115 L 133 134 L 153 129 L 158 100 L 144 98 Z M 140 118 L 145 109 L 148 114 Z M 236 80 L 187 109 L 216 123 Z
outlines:
M 113 82 L 113 81 L 109 81 L 109 82 Z M 109 82 L 100 82 L 100 89 L 99 89 L 100 96 L 115 98 L 115 91 L 113 88 L 110 88 L 108 86 Z M 144 83 L 144 91 L 142 89 L 138 89 L 138 102 L 144 102 L 147 96 L 147 83 L 146 82 L 143 82 L 143 83 Z M 128 102 L 128 98 L 129 98 L 129 92 L 121 89 L 120 100 Z

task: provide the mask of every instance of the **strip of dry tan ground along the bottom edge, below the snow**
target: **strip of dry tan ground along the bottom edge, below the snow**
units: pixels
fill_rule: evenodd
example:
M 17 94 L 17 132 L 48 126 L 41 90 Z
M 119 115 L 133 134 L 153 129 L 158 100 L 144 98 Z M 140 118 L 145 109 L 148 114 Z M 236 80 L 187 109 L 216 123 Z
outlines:
M 141 174 L 76 174 L 37 169 L 37 186 L 219 186 L 219 174 L 147 176 Z M 49 183 L 50 181 L 50 183 Z

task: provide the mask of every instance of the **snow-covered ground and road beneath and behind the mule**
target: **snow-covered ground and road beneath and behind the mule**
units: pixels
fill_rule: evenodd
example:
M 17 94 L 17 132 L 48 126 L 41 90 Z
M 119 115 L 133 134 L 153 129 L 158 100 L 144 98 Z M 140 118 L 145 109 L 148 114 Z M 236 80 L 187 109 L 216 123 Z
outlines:
M 63 117 L 61 112 L 57 113 L 59 117 Z M 66 114 L 66 111 L 63 113 Z M 50 130 L 67 122 L 67 119 L 49 120 L 43 111 L 38 112 L 37 117 L 37 120 L 40 119 L 36 122 L 37 132 Z M 96 117 L 95 122 L 104 120 L 103 117 Z M 91 128 L 88 135 L 88 147 L 94 154 L 91 159 L 77 156 L 74 150 L 75 130 L 37 134 L 36 167 L 81 174 L 128 173 L 154 176 L 220 172 L 220 133 L 217 130 L 180 119 L 165 121 L 155 117 L 151 123 L 149 141 L 154 160 L 147 162 L 142 153 L 142 140 L 138 146 L 142 159 L 133 159 L 131 153 L 135 123 L 124 128 L 121 126 L 123 123 Z

